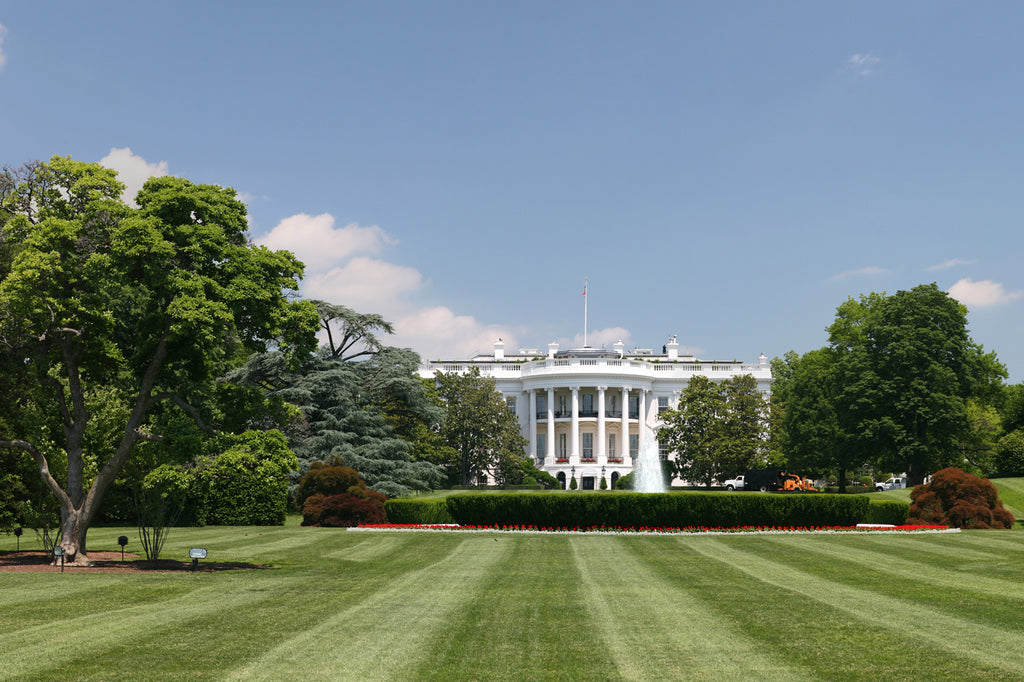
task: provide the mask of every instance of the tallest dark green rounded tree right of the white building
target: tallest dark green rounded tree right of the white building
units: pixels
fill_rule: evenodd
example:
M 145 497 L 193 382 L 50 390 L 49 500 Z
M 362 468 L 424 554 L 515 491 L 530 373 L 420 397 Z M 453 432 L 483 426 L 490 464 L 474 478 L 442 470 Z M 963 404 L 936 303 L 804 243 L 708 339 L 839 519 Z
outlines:
M 991 395 L 1006 376 L 968 335 L 966 307 L 935 284 L 872 294 L 840 306 L 829 341 L 840 355 L 837 411 L 882 468 L 914 483 L 963 464 L 968 399 Z

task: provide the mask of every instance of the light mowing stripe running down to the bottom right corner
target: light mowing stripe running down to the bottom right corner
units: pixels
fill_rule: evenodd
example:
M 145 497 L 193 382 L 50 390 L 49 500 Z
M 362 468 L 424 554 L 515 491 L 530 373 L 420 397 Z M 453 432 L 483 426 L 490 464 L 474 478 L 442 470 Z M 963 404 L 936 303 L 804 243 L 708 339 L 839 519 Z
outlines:
M 854 620 L 1024 678 L 1024 657 L 1010 655 L 1024 649 L 1024 633 L 973 623 L 906 600 L 880 599 L 874 592 L 819 578 L 719 540 L 707 539 L 692 547 L 768 585 L 850 613 Z

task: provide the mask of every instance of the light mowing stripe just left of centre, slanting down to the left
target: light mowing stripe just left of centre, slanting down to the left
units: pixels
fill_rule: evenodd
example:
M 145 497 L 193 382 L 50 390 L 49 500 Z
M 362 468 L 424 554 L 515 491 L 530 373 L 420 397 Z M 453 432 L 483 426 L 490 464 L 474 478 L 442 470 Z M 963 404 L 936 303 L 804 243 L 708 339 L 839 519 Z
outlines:
M 410 671 L 433 633 L 509 557 L 508 543 L 460 540 L 440 561 L 411 569 L 358 604 L 310 624 L 227 678 L 336 680 L 343 671 L 352 680 L 412 679 Z

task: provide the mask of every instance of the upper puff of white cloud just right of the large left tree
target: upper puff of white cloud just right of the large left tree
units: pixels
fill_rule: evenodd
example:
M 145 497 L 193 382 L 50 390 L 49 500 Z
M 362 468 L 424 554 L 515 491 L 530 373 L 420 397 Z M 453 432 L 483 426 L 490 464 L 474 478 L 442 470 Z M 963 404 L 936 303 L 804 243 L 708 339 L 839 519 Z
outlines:
M 384 246 L 397 241 L 377 225 L 362 227 L 349 223 L 334 226 L 330 213 L 300 213 L 282 220 L 267 235 L 256 240 L 268 249 L 287 249 L 306 264 L 308 272 L 323 272 L 358 253 L 380 253 Z

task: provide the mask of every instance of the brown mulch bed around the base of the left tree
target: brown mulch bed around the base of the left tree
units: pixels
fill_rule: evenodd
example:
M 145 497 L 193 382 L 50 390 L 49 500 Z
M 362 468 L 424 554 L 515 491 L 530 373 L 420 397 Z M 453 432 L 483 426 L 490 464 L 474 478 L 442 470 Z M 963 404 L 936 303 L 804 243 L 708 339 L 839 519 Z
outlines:
M 144 572 L 191 572 L 191 561 L 175 559 L 160 559 L 146 561 L 139 559 L 137 554 L 125 552 L 124 561 L 121 552 L 89 552 L 91 566 L 76 566 L 65 564 L 65 572 L 76 573 L 144 573 Z M 199 562 L 199 572 L 208 573 L 218 570 L 239 570 L 252 568 L 269 568 L 270 566 L 241 561 L 206 561 Z M 53 572 L 60 571 L 60 564 L 53 565 L 53 555 L 41 550 L 23 552 L 0 552 L 0 572 Z

